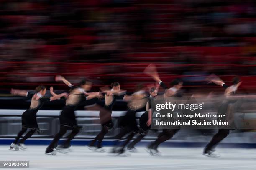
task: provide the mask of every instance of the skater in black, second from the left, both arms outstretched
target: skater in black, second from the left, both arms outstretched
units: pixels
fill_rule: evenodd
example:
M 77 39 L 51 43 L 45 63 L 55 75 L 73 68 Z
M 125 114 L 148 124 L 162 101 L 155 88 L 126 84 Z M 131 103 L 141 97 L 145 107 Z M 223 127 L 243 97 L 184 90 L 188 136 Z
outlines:
M 82 129 L 81 126 L 77 125 L 77 120 L 74 113 L 74 110 L 77 108 L 77 106 L 82 105 L 83 103 L 85 103 L 86 100 L 90 100 L 95 97 L 102 97 L 100 92 L 86 92 L 90 90 L 92 86 L 92 82 L 90 82 L 89 80 L 81 80 L 78 87 L 72 85 L 62 76 L 57 76 L 56 81 L 63 81 L 71 88 L 71 92 L 69 93 L 66 100 L 66 105 L 64 106 L 59 116 L 60 130 L 54 136 L 54 139 L 51 141 L 50 145 L 46 148 L 45 153 L 49 155 L 56 155 L 57 150 L 62 153 L 66 153 L 67 148 L 70 147 L 71 140 Z M 57 146 L 59 139 L 62 138 L 67 130 L 72 130 L 72 132 L 67 136 L 67 140 L 65 140 L 62 145 Z

